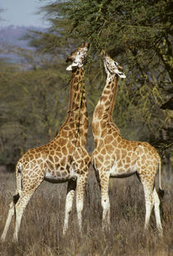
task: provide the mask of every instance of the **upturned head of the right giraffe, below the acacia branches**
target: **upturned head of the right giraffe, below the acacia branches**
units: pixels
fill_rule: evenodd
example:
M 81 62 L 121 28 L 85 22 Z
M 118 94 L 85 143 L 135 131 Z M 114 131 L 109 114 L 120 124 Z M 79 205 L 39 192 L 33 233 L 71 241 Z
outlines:
M 123 70 L 123 68 L 114 59 L 111 59 L 109 55 L 104 56 L 104 65 L 107 75 L 118 75 L 119 78 L 126 78 L 125 74 L 119 71 L 119 69 Z

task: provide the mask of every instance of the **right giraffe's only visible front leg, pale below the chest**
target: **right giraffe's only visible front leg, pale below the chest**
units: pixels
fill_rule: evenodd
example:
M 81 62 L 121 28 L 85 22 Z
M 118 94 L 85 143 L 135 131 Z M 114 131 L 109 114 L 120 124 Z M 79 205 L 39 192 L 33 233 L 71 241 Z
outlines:
M 108 174 L 101 178 L 101 206 L 103 209 L 102 213 L 102 228 L 104 230 L 110 230 L 110 198 L 109 198 L 109 181 L 110 177 Z

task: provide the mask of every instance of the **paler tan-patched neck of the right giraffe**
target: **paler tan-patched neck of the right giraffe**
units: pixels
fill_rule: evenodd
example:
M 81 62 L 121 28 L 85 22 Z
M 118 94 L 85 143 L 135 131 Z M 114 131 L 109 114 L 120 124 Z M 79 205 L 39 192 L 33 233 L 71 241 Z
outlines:
M 101 98 L 96 105 L 93 114 L 92 132 L 94 137 L 101 137 L 101 132 L 105 123 L 113 123 L 112 113 L 115 105 L 118 79 L 115 76 L 108 76 L 105 88 L 101 93 Z M 119 130 L 118 130 L 119 131 Z

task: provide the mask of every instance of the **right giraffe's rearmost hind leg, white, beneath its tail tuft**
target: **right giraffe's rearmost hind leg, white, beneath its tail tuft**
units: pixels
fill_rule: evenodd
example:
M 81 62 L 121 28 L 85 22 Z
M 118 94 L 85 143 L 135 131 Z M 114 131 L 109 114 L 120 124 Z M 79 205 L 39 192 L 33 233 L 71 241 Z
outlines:
M 161 226 L 161 216 L 160 216 L 160 209 L 159 209 L 160 200 L 157 195 L 156 187 L 154 187 L 154 191 L 153 191 L 153 200 L 154 200 L 154 212 L 155 212 L 155 217 L 157 220 L 157 230 L 159 231 L 159 234 L 162 236 L 163 230 L 162 230 L 162 226 Z

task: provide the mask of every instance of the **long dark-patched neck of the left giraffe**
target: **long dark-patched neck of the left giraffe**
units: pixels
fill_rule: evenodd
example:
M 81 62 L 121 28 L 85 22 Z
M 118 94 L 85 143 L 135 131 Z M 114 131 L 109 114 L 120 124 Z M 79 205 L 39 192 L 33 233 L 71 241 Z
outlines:
M 88 118 L 82 68 L 72 71 L 68 116 L 60 130 L 67 129 L 67 127 L 73 131 L 72 135 L 79 140 L 80 145 L 85 146 Z

